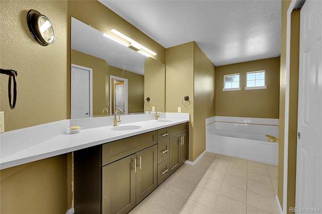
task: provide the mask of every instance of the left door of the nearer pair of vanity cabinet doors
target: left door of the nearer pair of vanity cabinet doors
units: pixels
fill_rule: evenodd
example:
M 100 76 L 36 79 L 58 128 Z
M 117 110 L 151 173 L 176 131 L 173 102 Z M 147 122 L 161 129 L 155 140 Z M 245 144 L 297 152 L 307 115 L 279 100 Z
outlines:
M 102 167 L 102 213 L 127 213 L 135 204 L 135 155 Z

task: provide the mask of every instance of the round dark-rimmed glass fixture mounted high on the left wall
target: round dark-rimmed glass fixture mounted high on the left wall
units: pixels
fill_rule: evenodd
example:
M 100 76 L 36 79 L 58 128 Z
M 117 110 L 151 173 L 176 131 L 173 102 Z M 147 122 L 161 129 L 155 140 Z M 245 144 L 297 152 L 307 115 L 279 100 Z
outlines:
M 27 14 L 27 23 L 32 37 L 42 46 L 54 42 L 55 33 L 49 19 L 38 11 L 30 10 Z

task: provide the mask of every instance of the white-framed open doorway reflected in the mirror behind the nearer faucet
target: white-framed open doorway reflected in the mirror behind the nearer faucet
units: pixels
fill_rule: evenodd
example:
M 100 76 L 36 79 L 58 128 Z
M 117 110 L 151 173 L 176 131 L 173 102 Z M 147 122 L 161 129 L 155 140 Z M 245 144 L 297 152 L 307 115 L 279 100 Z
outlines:
M 121 109 L 128 115 L 128 79 L 110 75 L 110 112 Z

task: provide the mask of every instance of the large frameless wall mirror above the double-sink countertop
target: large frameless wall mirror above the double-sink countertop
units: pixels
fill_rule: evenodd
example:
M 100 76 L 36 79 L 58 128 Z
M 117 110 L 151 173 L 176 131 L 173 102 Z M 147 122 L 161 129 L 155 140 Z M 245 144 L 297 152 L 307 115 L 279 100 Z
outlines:
M 71 118 L 111 116 L 115 109 L 143 114 L 151 104 L 164 108 L 164 96 L 163 63 L 71 18 Z

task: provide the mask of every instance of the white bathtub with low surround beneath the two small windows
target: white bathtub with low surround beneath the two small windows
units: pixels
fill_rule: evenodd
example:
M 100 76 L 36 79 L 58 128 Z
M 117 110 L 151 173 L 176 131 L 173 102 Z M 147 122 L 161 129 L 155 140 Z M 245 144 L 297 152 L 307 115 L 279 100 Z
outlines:
M 206 119 L 206 150 L 222 155 L 277 165 L 278 119 L 212 117 Z

